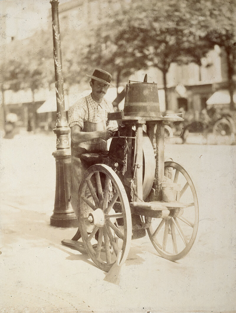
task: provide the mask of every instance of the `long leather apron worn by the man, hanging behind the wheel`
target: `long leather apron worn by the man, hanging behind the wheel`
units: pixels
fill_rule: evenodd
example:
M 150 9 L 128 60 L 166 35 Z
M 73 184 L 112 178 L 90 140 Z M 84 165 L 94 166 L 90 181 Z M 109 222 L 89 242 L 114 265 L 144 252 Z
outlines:
M 106 130 L 105 120 L 98 123 L 84 122 L 82 131 L 91 132 L 104 130 Z M 89 167 L 85 161 L 80 159 L 81 153 L 97 153 L 102 151 L 107 151 L 107 141 L 101 138 L 92 139 L 79 144 L 74 144 L 71 141 L 71 205 L 76 216 L 78 216 L 77 201 L 79 185 L 84 171 Z

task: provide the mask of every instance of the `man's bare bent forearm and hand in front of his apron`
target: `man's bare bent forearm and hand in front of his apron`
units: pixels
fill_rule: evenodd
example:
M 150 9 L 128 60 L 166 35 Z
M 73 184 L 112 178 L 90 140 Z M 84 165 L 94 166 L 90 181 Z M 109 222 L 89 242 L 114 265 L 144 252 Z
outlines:
M 109 130 L 85 132 L 81 131 L 81 127 L 79 125 L 71 127 L 71 141 L 73 143 L 81 143 L 96 138 L 108 140 L 110 137 L 112 137 L 112 131 Z

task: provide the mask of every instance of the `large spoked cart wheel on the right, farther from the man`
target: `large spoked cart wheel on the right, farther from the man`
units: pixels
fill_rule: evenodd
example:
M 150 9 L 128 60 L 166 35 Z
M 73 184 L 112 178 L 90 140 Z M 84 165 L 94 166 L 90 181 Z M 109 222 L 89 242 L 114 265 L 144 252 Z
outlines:
M 165 162 L 165 176 L 180 184 L 176 200 L 183 208 L 170 208 L 168 217 L 152 218 L 147 232 L 157 252 L 163 258 L 174 261 L 183 258 L 196 239 L 198 201 L 193 182 L 180 164 Z

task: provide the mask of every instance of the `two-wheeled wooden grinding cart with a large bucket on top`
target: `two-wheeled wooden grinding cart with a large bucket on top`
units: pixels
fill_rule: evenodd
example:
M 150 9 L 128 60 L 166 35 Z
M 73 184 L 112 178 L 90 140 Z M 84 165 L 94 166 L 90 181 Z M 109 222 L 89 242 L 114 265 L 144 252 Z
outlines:
M 78 220 L 87 253 L 108 272 L 125 262 L 131 240 L 147 232 L 162 257 L 184 257 L 197 235 L 197 194 L 180 164 L 164 162 L 164 123 L 181 118 L 161 116 L 156 84 L 129 82 L 124 110 L 108 119 L 122 121 L 109 151 L 81 156 L 88 168 L 78 190 Z

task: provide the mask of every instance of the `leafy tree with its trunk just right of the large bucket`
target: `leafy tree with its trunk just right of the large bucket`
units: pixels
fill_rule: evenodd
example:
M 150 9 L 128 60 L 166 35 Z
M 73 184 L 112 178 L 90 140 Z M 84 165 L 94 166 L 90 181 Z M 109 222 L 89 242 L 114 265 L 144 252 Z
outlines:
M 170 64 L 173 62 L 201 64 L 201 57 L 207 51 L 206 47 L 196 44 L 192 14 L 188 1 L 135 2 L 127 26 L 124 26 L 126 29 L 124 38 L 128 49 L 133 47 L 147 66 L 162 71 L 166 109 L 168 109 L 166 76 Z

